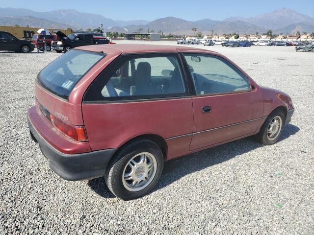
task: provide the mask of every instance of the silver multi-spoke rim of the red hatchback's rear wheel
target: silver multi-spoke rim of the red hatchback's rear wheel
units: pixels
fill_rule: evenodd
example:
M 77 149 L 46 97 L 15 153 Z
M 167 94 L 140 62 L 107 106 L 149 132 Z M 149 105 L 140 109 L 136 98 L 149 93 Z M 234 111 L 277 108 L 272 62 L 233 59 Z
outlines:
M 123 170 L 123 186 L 132 192 L 140 191 L 153 181 L 157 172 L 157 161 L 153 154 L 143 152 L 131 158 Z

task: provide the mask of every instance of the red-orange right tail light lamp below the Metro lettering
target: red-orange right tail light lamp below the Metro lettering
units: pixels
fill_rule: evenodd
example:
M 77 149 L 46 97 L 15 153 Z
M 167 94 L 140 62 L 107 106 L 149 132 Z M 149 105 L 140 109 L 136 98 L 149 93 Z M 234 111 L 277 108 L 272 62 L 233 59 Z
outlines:
M 75 126 L 68 123 L 63 122 L 59 118 L 54 117 L 50 114 L 50 120 L 52 125 L 61 131 L 63 134 L 67 135 L 68 137 L 76 140 L 76 141 L 88 141 L 87 135 L 84 126 Z

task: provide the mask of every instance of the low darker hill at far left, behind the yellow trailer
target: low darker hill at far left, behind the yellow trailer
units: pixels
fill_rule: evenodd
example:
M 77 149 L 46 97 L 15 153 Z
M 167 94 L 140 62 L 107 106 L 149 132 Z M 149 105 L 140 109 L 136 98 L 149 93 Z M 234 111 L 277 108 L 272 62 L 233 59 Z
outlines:
M 4 26 L 14 26 L 20 25 L 21 27 L 26 27 L 26 25 L 35 28 L 58 28 L 66 29 L 72 27 L 69 24 L 61 24 L 57 22 L 47 21 L 45 19 L 36 18 L 33 16 L 22 16 L 22 17 L 0 17 L 0 25 Z

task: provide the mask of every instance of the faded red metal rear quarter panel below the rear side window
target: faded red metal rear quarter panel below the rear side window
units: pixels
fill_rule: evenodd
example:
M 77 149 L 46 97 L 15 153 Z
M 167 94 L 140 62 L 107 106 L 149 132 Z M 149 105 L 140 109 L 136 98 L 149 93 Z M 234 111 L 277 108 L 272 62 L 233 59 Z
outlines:
M 120 147 L 143 134 L 155 134 L 166 140 L 193 131 L 190 97 L 83 104 L 82 107 L 87 136 L 93 151 Z M 168 151 L 171 147 L 168 146 Z

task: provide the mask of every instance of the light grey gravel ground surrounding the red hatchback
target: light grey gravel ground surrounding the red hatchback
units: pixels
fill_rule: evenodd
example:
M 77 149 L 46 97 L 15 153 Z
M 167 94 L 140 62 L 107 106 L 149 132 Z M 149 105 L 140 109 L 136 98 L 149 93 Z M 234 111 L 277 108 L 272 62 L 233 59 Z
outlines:
M 102 178 L 62 180 L 29 137 L 34 79 L 59 54 L 0 52 L 0 234 L 314 234 L 314 53 L 209 49 L 288 93 L 292 121 L 275 145 L 247 138 L 169 161 L 157 189 L 128 202 Z

